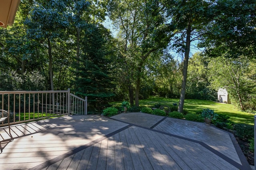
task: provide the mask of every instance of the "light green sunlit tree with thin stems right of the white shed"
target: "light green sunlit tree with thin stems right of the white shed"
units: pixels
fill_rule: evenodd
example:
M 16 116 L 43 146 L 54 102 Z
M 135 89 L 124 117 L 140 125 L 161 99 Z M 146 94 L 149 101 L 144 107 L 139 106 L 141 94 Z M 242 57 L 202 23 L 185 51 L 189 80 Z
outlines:
M 208 77 L 215 90 L 226 88 L 241 110 L 248 109 L 244 103 L 255 100 L 255 59 L 240 56 L 236 59 L 224 57 L 210 59 Z M 251 74 L 252 73 L 252 74 Z M 254 101 L 255 102 L 255 101 Z

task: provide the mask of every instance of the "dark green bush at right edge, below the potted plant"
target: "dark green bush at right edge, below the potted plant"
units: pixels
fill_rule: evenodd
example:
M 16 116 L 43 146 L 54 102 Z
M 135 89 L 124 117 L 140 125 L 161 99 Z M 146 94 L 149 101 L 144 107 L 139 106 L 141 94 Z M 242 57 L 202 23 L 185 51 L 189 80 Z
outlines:
M 235 135 L 246 141 L 254 137 L 254 126 L 238 123 L 234 125 Z

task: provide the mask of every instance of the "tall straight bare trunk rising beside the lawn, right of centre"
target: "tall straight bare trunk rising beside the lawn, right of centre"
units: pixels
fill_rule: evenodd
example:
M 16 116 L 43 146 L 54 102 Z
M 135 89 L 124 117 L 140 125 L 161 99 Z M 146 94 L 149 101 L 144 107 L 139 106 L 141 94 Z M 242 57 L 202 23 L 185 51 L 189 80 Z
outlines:
M 185 57 L 183 61 L 183 71 L 182 71 L 182 83 L 181 83 L 181 92 L 180 92 L 180 101 L 178 106 L 178 112 L 183 112 L 184 100 L 185 100 L 185 92 L 186 92 L 186 81 L 187 81 L 187 71 L 188 71 L 188 58 L 190 51 L 190 32 L 191 32 L 191 22 L 188 23 L 187 28 L 187 36 L 186 36 L 186 49 L 185 49 Z

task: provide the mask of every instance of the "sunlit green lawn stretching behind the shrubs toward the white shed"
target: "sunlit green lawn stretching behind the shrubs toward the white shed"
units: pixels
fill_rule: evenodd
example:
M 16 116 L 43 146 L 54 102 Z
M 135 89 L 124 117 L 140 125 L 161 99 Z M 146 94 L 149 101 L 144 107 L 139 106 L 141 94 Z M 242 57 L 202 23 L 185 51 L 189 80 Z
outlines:
M 173 103 L 179 102 L 179 99 L 167 99 L 160 97 L 150 97 L 147 100 L 140 100 L 140 106 L 152 107 L 159 102 L 162 105 L 172 106 Z M 214 109 L 218 114 L 228 115 L 234 123 L 245 123 L 254 125 L 254 114 L 239 111 L 232 104 L 222 104 L 208 100 L 185 100 L 184 109 L 189 113 L 196 113 L 202 109 Z

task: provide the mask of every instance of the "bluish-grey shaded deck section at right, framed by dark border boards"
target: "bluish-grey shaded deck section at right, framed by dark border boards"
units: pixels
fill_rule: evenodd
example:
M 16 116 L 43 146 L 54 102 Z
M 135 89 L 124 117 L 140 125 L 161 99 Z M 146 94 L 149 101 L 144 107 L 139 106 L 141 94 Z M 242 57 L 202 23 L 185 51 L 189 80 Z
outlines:
M 207 126 L 205 123 L 167 118 L 154 129 L 204 142 L 234 161 L 241 163 L 229 134 Z

